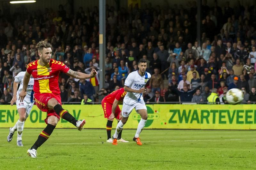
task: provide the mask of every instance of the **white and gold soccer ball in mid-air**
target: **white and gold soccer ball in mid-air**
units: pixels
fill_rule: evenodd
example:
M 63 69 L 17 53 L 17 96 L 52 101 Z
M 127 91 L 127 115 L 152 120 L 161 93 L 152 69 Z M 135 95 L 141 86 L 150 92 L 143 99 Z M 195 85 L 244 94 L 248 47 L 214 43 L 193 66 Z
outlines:
M 230 89 L 226 94 L 229 104 L 239 104 L 244 100 L 244 93 L 240 89 Z

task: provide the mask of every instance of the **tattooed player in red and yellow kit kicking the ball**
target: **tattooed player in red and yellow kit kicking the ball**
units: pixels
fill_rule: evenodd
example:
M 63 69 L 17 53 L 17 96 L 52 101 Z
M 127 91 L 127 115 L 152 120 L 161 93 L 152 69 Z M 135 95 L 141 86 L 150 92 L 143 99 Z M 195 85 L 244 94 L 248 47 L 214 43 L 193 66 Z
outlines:
M 27 71 L 23 79 L 23 89 L 20 92 L 19 100 L 22 102 L 26 96 L 26 90 L 30 75 L 34 77 L 34 99 L 37 107 L 47 112 L 45 123 L 46 128 L 39 134 L 35 144 L 28 150 L 28 155 L 32 158 L 37 157 L 37 148 L 41 146 L 52 134 L 60 120 L 60 117 L 74 124 L 79 131 L 83 129 L 85 120 L 76 120 L 67 110 L 61 106 L 60 88 L 58 79 L 60 72 L 66 73 L 77 79 L 89 79 L 95 77 L 97 72 L 92 70 L 91 74 L 84 74 L 69 69 L 60 61 L 51 59 L 52 45 L 47 41 L 40 41 L 36 48 L 38 50 L 39 60 L 28 64 Z

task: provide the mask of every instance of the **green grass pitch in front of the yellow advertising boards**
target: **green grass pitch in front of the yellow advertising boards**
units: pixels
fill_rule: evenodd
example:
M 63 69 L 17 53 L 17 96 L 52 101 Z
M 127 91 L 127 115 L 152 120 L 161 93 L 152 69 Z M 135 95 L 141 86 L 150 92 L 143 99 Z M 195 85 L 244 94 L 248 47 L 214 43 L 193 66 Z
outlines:
M 129 143 L 106 143 L 106 130 L 55 129 L 38 148 L 27 150 L 42 129 L 24 129 L 23 147 L 10 143 L 0 129 L 0 169 L 255 169 L 256 131 L 144 130 L 142 146 L 132 141 L 136 130 L 123 131 Z M 114 133 L 114 129 L 112 130 Z

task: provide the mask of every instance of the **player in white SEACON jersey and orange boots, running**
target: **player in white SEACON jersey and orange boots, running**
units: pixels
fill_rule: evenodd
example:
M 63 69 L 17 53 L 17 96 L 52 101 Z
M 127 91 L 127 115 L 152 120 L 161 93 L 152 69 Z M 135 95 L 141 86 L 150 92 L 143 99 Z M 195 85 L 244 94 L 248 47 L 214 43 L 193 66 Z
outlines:
M 148 119 L 148 112 L 143 100 L 143 93 L 146 92 L 145 85 L 151 78 L 151 75 L 146 72 L 147 61 L 145 59 L 140 59 L 138 67 L 139 70 L 130 73 L 124 82 L 124 91 L 127 91 L 127 94 L 125 95 L 123 102 L 122 120 L 117 124 L 116 132 L 113 136 L 113 145 L 117 145 L 118 133 L 123 129 L 133 108 L 135 108 L 137 113 L 141 116 L 133 141 L 135 141 L 137 145 L 142 145 L 139 135 Z

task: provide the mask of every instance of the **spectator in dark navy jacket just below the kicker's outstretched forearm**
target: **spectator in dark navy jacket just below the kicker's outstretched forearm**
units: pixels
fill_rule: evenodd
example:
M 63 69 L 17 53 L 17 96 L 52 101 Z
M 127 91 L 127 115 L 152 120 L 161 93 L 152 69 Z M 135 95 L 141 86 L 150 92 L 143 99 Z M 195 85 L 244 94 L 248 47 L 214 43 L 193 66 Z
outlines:
M 94 102 L 95 90 L 92 86 L 92 83 L 90 81 L 85 81 L 84 79 L 82 79 L 80 80 L 79 86 L 81 96 L 86 94 L 92 100 L 92 102 Z

